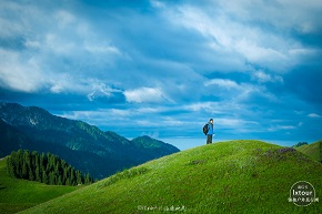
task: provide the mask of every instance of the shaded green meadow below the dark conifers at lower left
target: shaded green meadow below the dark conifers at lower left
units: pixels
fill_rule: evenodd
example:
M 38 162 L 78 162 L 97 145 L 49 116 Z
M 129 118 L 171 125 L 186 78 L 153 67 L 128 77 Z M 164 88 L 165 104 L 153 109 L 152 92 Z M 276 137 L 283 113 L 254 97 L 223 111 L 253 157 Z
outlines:
M 0 213 L 16 213 L 77 190 L 76 186 L 53 186 L 12 179 L 7 173 L 6 159 L 0 161 Z

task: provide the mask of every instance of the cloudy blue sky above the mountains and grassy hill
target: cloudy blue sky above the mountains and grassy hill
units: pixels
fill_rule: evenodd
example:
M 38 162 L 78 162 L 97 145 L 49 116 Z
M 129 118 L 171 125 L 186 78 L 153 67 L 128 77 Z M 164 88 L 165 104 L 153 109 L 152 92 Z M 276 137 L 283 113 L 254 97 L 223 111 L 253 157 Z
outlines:
M 0 0 L 0 100 L 134 137 L 322 139 L 322 1 Z

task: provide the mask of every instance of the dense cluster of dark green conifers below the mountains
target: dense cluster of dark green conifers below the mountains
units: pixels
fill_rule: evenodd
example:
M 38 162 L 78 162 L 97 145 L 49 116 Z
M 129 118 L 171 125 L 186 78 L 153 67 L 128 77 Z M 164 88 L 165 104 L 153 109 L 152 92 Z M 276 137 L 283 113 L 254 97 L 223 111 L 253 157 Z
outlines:
M 39 154 L 19 150 L 7 157 L 7 169 L 10 176 L 37 181 L 51 185 L 91 184 L 93 179 L 84 176 L 66 161 L 50 153 Z

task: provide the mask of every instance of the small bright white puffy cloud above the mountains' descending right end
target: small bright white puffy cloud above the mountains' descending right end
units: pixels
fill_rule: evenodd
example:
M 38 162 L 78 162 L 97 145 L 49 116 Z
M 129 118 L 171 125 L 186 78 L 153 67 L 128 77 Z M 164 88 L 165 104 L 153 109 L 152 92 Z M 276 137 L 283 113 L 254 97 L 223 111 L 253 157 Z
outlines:
M 165 95 L 160 89 L 155 88 L 139 88 L 134 90 L 124 91 L 128 102 L 144 103 L 144 102 L 161 102 L 167 100 Z

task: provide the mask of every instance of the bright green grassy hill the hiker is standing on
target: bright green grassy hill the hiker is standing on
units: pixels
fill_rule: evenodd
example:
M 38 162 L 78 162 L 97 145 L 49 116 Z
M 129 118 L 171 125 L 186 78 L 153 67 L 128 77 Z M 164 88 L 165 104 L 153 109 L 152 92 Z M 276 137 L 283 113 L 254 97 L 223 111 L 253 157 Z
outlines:
M 124 171 L 23 213 L 322 213 L 288 202 L 308 181 L 322 197 L 322 165 L 259 141 L 230 141 L 179 152 Z M 137 175 L 135 175 L 137 173 Z M 123 177 L 123 179 L 122 179 Z M 171 213 L 171 212 L 170 212 Z M 172 212 L 174 213 L 174 212 Z

